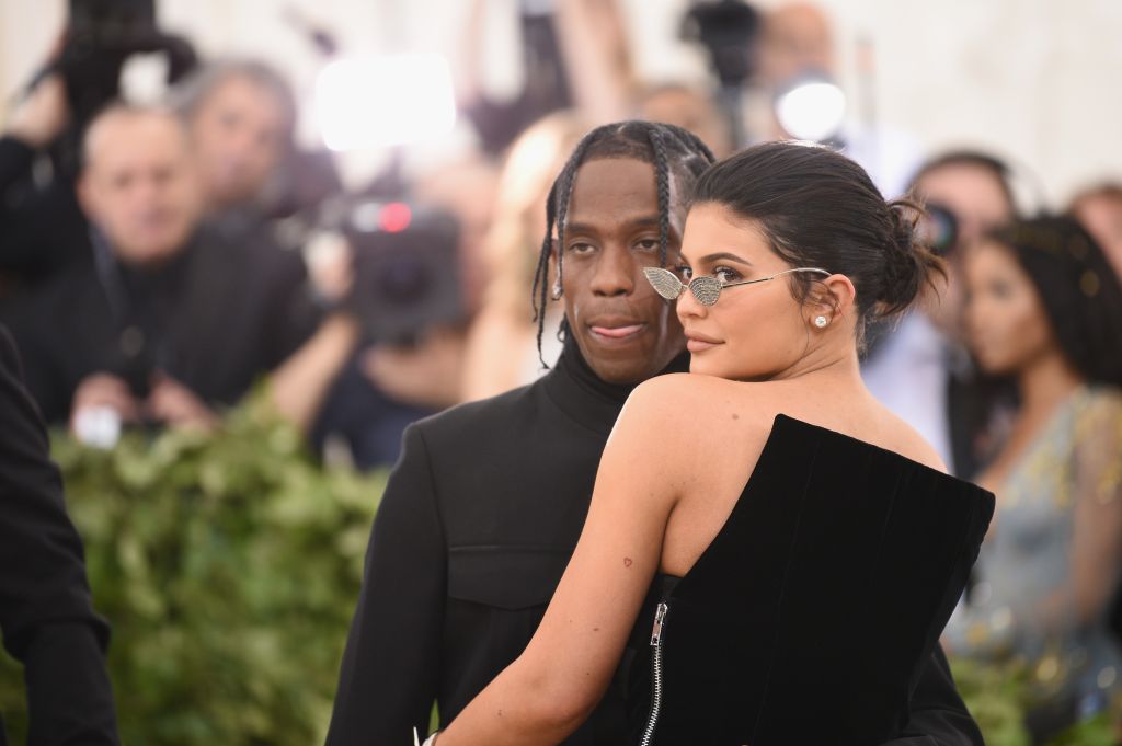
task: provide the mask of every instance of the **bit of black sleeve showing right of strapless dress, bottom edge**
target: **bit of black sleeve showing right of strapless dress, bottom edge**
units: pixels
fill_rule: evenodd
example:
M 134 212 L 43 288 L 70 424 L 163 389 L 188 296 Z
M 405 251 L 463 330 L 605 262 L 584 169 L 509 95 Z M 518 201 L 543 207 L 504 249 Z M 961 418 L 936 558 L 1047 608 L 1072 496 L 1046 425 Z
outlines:
M 984 746 L 982 733 L 955 689 L 947 656 L 938 645 L 912 692 L 911 719 L 885 746 Z

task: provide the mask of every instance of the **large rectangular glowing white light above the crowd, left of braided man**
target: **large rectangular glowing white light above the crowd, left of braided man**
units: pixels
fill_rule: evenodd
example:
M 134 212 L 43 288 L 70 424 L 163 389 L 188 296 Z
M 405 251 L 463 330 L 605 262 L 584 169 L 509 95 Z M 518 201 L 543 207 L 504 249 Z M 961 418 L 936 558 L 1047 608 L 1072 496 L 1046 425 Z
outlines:
M 332 150 L 443 137 L 456 126 L 448 62 L 435 54 L 333 62 L 315 82 L 315 118 Z

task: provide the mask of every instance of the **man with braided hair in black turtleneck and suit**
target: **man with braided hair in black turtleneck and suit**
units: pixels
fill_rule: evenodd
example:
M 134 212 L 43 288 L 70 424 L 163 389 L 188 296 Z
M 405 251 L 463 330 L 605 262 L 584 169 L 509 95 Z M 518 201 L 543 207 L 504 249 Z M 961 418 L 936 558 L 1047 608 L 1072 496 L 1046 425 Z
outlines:
M 555 215 L 563 240 L 545 242 L 537 275 L 564 300 L 564 351 L 537 383 L 406 431 L 374 525 L 329 746 L 408 743 L 434 700 L 450 721 L 530 642 L 624 400 L 687 367 L 681 325 L 642 269 L 675 263 L 682 195 L 710 162 L 697 138 L 651 122 L 598 128 L 578 146 L 550 196 L 549 231 Z M 905 734 L 916 740 L 902 734 L 899 744 L 982 743 L 941 657 L 912 709 Z M 564 743 L 618 746 L 625 720 L 613 688 Z

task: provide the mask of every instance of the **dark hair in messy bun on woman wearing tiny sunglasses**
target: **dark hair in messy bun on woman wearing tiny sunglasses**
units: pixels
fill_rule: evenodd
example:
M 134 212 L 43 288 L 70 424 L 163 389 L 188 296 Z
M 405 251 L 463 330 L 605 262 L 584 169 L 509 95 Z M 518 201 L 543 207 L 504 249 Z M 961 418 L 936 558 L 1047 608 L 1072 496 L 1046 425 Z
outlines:
M 938 257 L 913 239 L 920 208 L 885 202 L 868 174 L 825 147 L 766 142 L 721 160 L 693 187 L 692 204 L 716 203 L 761 227 L 771 248 L 795 267 L 848 277 L 857 289 L 858 340 L 868 319 L 907 310 Z M 795 298 L 815 283 L 791 275 Z

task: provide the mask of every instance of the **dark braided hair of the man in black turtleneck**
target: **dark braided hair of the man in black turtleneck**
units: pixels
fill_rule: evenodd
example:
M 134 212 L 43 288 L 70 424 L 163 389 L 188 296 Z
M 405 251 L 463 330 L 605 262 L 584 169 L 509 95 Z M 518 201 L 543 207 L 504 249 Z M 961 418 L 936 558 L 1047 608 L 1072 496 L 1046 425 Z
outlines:
M 679 199 L 683 204 L 698 177 L 715 160 L 712 151 L 689 130 L 664 125 L 631 120 L 597 127 L 577 144 L 564 168 L 553 182 L 545 201 L 545 237 L 534 271 L 534 321 L 537 322 L 537 353 L 541 357 L 542 334 L 545 330 L 545 304 L 549 288 L 550 255 L 553 251 L 553 229 L 557 228 L 558 246 L 564 245 L 565 218 L 577 169 L 581 164 L 603 158 L 634 158 L 654 166 L 659 194 L 660 261 L 666 264 L 670 246 L 670 176 L 673 174 Z M 563 252 L 558 252 L 558 275 L 564 271 Z M 561 326 L 564 332 L 564 324 Z M 545 365 L 545 361 L 542 361 Z M 548 367 L 548 366 L 546 366 Z

